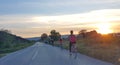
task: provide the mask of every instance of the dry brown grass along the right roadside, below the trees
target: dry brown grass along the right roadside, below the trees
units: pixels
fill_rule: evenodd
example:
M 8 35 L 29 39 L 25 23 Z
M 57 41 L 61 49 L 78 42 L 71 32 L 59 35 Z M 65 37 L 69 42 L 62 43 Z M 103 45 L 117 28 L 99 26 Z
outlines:
M 110 36 L 101 38 L 80 38 L 77 40 L 78 52 L 96 59 L 120 65 L 120 39 Z M 59 45 L 56 41 L 55 45 Z M 68 49 L 69 42 L 64 40 L 63 46 Z

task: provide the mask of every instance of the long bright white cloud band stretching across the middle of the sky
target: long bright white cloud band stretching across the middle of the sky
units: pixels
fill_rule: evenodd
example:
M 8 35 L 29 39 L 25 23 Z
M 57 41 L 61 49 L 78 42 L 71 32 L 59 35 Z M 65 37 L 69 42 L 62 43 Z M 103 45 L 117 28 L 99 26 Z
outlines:
M 86 25 L 100 22 L 120 20 L 120 9 L 94 10 L 80 14 L 38 16 L 38 15 L 4 15 L 0 16 L 0 24 L 15 27 L 51 27 L 68 25 Z M 65 23 L 65 24 L 64 24 Z M 15 28 L 13 27 L 13 28 Z

